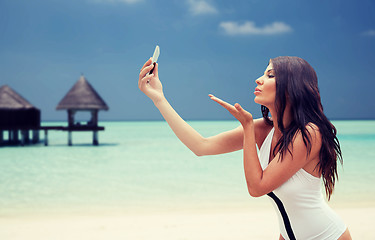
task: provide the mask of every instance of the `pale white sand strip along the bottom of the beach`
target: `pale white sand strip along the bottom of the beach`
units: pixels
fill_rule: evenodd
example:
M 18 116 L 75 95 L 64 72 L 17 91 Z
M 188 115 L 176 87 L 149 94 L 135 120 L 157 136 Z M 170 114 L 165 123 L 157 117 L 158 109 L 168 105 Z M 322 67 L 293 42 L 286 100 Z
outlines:
M 375 239 L 375 208 L 335 209 L 353 239 Z M 273 209 L 0 218 L 4 240 L 278 239 Z

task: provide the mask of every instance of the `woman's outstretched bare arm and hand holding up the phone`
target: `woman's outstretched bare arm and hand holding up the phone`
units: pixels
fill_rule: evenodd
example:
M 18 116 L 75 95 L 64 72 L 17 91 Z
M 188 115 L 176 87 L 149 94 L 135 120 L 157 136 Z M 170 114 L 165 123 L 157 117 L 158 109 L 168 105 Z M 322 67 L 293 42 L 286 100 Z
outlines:
M 158 64 L 155 65 L 153 74 L 147 74 L 153 67 L 151 59 L 143 65 L 139 74 L 138 87 L 153 101 L 183 144 L 197 156 L 222 154 L 242 149 L 242 126 L 216 136 L 205 138 L 186 123 L 164 96 L 158 75 Z

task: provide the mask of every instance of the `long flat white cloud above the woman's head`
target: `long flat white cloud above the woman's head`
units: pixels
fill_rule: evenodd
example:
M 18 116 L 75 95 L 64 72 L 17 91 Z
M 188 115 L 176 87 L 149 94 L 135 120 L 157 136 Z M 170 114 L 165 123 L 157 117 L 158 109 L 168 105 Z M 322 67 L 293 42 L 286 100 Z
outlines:
M 293 29 L 283 22 L 273 22 L 264 27 L 257 27 L 255 22 L 246 21 L 242 25 L 238 22 L 221 22 L 219 27 L 228 35 L 275 35 L 288 33 Z

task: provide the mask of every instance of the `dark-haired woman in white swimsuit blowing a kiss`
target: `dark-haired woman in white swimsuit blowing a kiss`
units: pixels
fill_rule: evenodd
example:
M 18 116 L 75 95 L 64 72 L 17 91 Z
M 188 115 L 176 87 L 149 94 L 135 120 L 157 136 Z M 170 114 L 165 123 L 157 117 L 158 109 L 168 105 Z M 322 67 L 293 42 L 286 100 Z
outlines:
M 209 95 L 241 123 L 209 138 L 203 138 L 174 111 L 163 95 L 158 64 L 154 73 L 147 75 L 153 67 L 151 59 L 142 67 L 140 90 L 196 155 L 243 149 L 248 191 L 253 197 L 267 194 L 271 198 L 279 218 L 280 239 L 351 239 L 321 192 L 322 179 L 330 199 L 341 150 L 336 129 L 323 113 L 316 73 L 305 60 L 270 60 L 264 75 L 255 81 L 254 101 L 261 105 L 263 118 L 253 120 L 238 103 L 232 106 Z

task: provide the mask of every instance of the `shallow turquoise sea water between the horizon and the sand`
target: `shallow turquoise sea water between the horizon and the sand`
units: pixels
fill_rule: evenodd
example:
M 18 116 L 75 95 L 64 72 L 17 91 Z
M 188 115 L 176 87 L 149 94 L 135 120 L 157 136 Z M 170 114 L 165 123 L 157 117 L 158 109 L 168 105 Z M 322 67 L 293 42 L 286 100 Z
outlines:
M 331 200 L 375 206 L 375 121 L 334 121 L 344 156 Z M 236 121 L 191 121 L 203 136 Z M 43 125 L 65 125 L 47 122 Z M 242 151 L 197 157 L 165 122 L 102 122 L 92 133 L 50 131 L 49 146 L 0 147 L 0 217 L 269 207 L 246 189 Z M 41 138 L 44 134 L 41 132 Z

